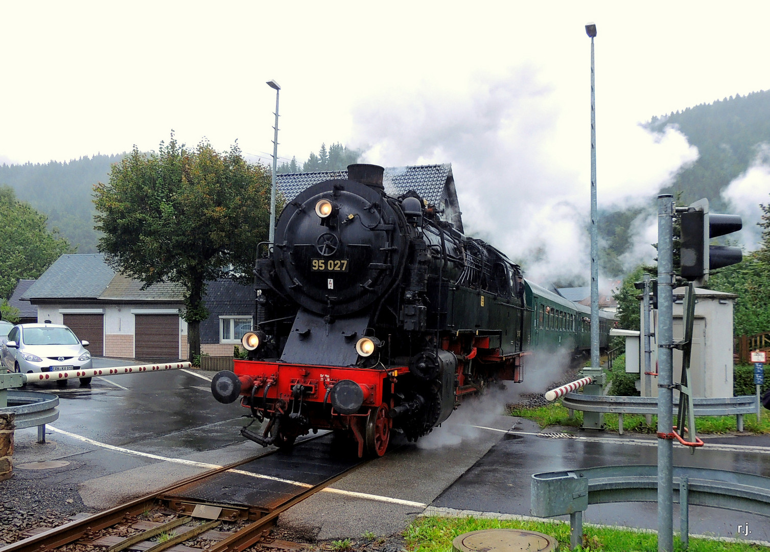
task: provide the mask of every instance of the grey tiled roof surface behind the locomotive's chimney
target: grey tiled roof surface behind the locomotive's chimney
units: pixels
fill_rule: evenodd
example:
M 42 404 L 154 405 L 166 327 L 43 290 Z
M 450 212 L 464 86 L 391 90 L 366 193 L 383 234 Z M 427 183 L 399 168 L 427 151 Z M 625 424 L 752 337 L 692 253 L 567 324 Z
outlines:
M 406 167 L 385 167 L 383 186 L 390 196 L 400 196 L 413 189 L 427 202 L 438 205 L 441 192 L 452 177 L 451 163 L 442 165 L 417 165 Z M 276 187 L 286 201 L 316 182 L 346 179 L 347 171 L 290 172 L 276 175 Z

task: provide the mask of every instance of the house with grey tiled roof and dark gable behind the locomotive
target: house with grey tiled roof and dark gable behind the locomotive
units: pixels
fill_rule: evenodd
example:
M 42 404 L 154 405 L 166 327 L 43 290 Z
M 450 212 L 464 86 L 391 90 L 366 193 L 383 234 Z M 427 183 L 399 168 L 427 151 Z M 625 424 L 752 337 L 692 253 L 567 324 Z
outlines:
M 290 202 L 308 186 L 333 179 L 347 179 L 347 171 L 283 173 L 276 175 L 276 188 L 283 199 Z M 450 163 L 385 167 L 383 186 L 385 192 L 393 197 L 414 190 L 428 205 L 437 207 L 440 219 L 451 222 L 457 230 L 464 232 Z

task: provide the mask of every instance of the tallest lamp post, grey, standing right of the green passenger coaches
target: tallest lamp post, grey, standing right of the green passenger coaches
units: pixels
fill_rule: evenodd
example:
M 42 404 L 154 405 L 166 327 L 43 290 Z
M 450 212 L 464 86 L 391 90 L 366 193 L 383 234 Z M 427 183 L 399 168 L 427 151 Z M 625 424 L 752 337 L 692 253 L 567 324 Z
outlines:
M 594 86 L 594 37 L 596 25 L 588 23 L 585 32 L 591 37 L 591 368 L 599 366 L 599 231 L 596 209 L 596 91 Z

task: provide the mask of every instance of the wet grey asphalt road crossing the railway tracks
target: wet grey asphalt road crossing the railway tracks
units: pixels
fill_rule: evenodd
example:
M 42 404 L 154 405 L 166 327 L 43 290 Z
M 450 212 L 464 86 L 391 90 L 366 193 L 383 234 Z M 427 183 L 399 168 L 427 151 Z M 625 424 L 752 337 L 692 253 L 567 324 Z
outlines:
M 108 364 L 121 362 L 95 360 L 96 366 Z M 87 387 L 73 381 L 64 390 L 29 384 L 28 390 L 59 395 L 59 420 L 49 424 L 45 444 L 35 443 L 35 428 L 17 430 L 14 483 L 0 482 L 0 494 L 5 488 L 18 490 L 25 477 L 34 474 L 46 477 L 51 485 L 74 486 L 85 507 L 102 510 L 201 473 L 206 464 L 223 465 L 263 452 L 239 435 L 247 423 L 241 417 L 243 409 L 213 400 L 212 376 L 173 370 L 94 378 Z M 514 437 L 504 438 L 514 423 Z M 397 442 L 382 459 L 334 483 L 338 493 L 311 497 L 284 514 L 282 523 L 304 527 L 320 539 L 340 539 L 367 531 L 397 533 L 428 505 L 529 515 L 532 473 L 657 463 L 654 440 L 645 444 L 638 436 L 596 432 L 579 432 L 588 440 L 544 439 L 537 433 L 533 423 L 490 412 L 489 405 L 463 405 L 444 427 L 417 445 Z M 695 456 L 675 447 L 675 463 L 770 476 L 770 437 L 725 437 L 711 440 L 711 447 L 706 441 Z M 753 448 L 721 450 L 720 443 Z M 23 468 L 39 460 L 69 464 L 45 471 Z M 590 506 L 584 520 L 655 528 L 657 507 L 654 503 Z M 752 531 L 749 538 L 770 540 L 766 518 L 691 507 L 691 534 L 738 537 L 738 525 L 747 524 Z

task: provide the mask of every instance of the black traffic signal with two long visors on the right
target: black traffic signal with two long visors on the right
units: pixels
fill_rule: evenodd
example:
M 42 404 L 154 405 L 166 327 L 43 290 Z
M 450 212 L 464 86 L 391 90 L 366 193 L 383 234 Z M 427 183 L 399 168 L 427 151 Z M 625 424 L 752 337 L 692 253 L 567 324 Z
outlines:
M 738 215 L 708 212 L 708 199 L 699 199 L 681 213 L 681 246 L 679 258 L 681 277 L 703 285 L 708 273 L 722 266 L 740 263 L 740 247 L 711 246 L 711 238 L 738 232 L 743 226 Z

